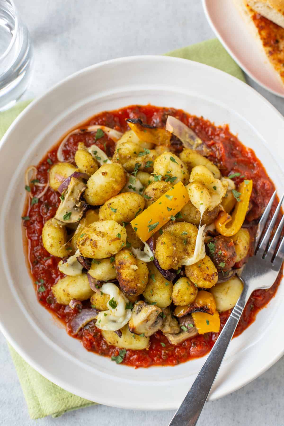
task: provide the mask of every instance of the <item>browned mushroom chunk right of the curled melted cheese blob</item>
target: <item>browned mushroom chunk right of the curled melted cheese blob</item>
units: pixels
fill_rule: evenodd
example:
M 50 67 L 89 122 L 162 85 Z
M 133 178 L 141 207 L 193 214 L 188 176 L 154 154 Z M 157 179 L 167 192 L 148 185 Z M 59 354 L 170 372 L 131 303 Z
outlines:
M 148 305 L 148 303 L 139 300 L 132 309 L 131 318 L 128 323 L 129 330 L 134 334 L 143 334 L 150 337 L 163 325 L 161 317 L 162 310 L 158 306 Z

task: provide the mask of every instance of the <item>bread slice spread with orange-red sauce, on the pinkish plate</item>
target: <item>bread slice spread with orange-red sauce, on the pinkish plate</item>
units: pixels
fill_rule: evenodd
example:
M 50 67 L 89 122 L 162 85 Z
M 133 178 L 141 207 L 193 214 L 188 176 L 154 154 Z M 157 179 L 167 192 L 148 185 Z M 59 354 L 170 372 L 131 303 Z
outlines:
M 256 13 L 248 0 L 233 0 L 260 49 L 264 52 L 284 84 L 284 28 Z M 253 40 L 252 40 L 253 42 Z

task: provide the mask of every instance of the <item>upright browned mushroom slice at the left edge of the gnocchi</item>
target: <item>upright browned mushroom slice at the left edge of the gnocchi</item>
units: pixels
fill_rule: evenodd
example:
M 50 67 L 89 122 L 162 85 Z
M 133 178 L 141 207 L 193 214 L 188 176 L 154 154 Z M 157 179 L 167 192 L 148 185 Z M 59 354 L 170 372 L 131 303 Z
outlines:
M 86 210 L 87 204 L 85 201 L 80 201 L 80 197 L 86 185 L 77 178 L 72 177 L 66 193 L 62 194 L 61 200 L 55 219 L 64 223 L 78 222 Z

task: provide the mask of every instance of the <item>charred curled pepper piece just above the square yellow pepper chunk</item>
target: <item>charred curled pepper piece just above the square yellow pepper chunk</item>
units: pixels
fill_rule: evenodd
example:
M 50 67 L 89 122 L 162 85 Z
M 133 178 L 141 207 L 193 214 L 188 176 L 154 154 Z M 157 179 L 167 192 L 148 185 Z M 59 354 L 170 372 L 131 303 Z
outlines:
M 192 312 L 205 312 L 209 315 L 214 315 L 216 311 L 216 303 L 214 296 L 209 291 L 200 290 L 195 298 L 192 305 L 177 306 L 175 308 L 175 317 L 183 317 L 186 314 L 192 314 Z

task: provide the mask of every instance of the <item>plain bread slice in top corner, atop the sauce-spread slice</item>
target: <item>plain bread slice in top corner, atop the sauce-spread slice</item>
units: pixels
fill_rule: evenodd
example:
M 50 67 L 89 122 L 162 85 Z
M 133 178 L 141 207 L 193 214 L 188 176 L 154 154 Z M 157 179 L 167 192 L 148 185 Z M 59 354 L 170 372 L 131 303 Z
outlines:
M 255 12 L 284 28 L 284 0 L 248 0 Z

